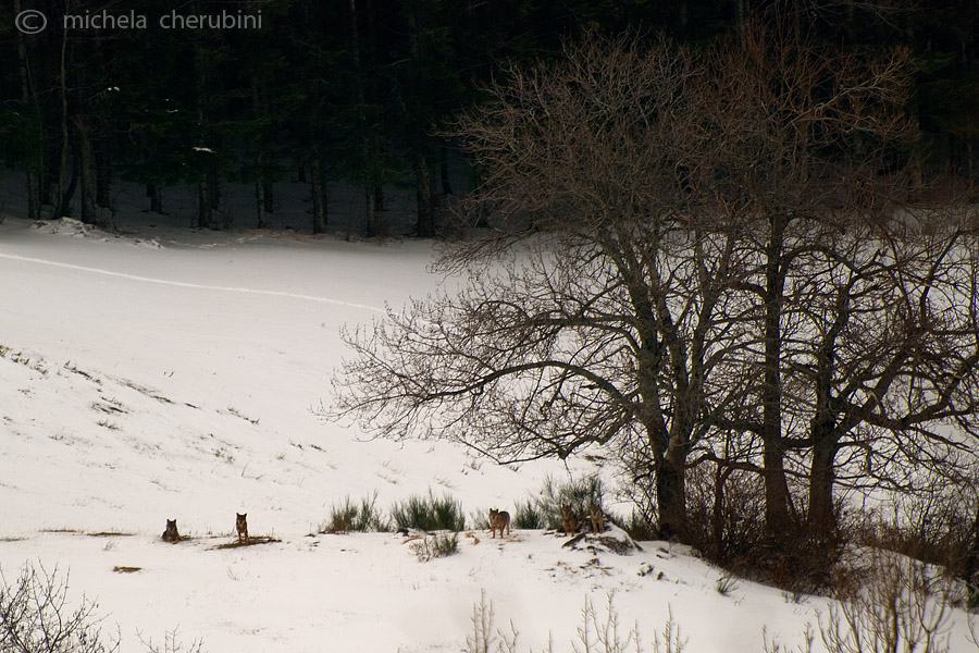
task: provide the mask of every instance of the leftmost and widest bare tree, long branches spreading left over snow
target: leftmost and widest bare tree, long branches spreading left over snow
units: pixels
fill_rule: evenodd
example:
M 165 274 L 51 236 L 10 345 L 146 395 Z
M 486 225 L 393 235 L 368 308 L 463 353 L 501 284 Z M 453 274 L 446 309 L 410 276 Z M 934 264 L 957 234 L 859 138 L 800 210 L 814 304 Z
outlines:
M 339 410 L 508 463 L 610 445 L 655 480 L 660 526 L 681 533 L 736 270 L 736 225 L 678 210 L 699 74 L 667 42 L 593 38 L 491 87 L 459 132 L 486 180 L 463 218 L 488 215 L 492 232 L 442 261 L 467 286 L 347 333 Z

